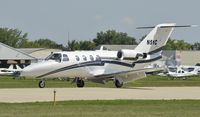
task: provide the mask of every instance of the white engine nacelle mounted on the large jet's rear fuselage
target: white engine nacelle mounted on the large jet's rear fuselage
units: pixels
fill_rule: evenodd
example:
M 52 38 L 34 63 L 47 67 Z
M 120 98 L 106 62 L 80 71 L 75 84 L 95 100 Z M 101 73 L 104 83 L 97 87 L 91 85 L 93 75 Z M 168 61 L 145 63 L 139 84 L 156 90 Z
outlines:
M 122 49 L 117 52 L 117 57 L 122 60 L 137 60 L 139 58 L 146 58 L 147 53 L 141 53 L 129 49 Z

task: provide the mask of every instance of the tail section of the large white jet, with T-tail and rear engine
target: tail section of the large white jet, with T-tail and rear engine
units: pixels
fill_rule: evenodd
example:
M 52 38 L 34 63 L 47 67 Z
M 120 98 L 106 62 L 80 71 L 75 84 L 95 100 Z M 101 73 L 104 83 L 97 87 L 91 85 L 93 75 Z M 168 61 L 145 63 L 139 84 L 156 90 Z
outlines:
M 152 27 L 139 27 L 137 29 L 153 28 L 153 30 L 134 49 L 122 49 L 118 51 L 117 57 L 123 60 L 152 59 L 161 58 L 161 52 L 166 45 L 174 28 L 191 27 L 191 25 L 176 26 L 175 23 L 159 24 Z

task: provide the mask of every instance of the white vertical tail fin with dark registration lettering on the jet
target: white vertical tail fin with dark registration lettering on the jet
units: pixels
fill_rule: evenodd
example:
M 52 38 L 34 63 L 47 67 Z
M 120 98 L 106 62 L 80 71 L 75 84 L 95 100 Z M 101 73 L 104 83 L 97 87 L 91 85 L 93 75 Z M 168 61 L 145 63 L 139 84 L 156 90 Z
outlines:
M 156 53 L 162 50 L 170 37 L 175 23 L 159 24 L 155 27 L 140 27 L 153 28 L 153 30 L 144 38 L 142 42 L 135 48 L 136 51 L 142 53 Z M 140 29 L 139 28 L 139 29 Z

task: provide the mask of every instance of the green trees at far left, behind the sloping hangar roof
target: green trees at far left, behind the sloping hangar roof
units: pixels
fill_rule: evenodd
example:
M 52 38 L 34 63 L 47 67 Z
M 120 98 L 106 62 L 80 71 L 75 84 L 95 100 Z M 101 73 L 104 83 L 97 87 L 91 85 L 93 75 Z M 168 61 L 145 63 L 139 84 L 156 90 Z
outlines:
M 28 33 L 22 33 L 19 29 L 0 28 L 0 42 L 14 48 L 60 48 L 62 45 L 50 39 L 38 39 L 30 41 Z

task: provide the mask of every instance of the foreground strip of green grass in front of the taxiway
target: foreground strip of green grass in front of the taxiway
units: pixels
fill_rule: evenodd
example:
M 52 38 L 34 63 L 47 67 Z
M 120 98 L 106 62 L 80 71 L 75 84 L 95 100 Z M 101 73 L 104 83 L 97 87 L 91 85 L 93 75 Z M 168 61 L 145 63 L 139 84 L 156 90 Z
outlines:
M 1 117 L 199 117 L 200 100 L 0 103 Z

